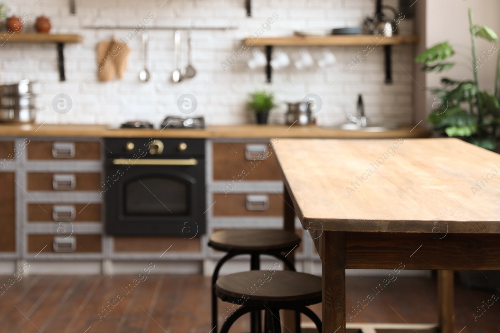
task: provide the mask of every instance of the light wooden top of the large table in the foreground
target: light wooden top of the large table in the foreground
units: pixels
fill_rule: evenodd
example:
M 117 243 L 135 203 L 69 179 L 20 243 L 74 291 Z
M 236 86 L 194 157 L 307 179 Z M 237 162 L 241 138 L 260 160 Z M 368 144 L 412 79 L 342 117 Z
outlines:
M 500 155 L 454 138 L 279 139 L 304 229 L 500 233 Z

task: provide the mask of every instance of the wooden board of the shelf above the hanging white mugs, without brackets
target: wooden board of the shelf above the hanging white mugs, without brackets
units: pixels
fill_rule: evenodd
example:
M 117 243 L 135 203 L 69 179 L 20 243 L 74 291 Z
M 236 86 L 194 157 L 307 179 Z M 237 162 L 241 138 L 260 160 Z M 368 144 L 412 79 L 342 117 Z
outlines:
M 395 35 L 379 37 L 376 35 L 328 35 L 328 36 L 291 36 L 274 38 L 245 38 L 247 46 L 353 46 L 353 45 L 401 45 L 416 44 L 418 36 Z

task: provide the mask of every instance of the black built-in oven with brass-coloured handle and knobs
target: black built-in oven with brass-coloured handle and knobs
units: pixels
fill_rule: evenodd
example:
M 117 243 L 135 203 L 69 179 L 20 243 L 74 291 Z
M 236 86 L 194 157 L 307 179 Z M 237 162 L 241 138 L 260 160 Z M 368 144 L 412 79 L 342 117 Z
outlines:
M 104 145 L 107 234 L 205 232 L 203 139 L 107 138 Z

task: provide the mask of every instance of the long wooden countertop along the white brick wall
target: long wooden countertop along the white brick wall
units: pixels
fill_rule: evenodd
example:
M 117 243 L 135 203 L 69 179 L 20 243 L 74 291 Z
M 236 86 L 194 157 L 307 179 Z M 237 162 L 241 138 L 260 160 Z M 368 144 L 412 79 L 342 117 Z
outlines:
M 154 137 L 154 138 L 421 138 L 429 132 L 423 127 L 402 126 L 384 132 L 325 129 L 320 126 L 229 125 L 205 129 L 108 129 L 105 125 L 0 125 L 0 136 L 27 137 Z

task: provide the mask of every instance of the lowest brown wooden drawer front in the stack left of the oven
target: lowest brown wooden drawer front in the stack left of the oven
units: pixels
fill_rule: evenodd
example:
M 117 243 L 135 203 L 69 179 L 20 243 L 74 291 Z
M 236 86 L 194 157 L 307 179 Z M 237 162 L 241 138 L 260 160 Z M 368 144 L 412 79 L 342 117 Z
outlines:
M 54 251 L 54 237 L 58 235 L 28 235 L 29 253 L 59 253 Z M 66 238 L 60 236 L 61 238 Z M 68 252 L 100 252 L 100 235 L 73 235 L 76 239 L 74 251 Z

